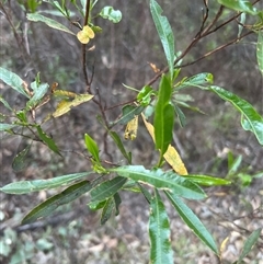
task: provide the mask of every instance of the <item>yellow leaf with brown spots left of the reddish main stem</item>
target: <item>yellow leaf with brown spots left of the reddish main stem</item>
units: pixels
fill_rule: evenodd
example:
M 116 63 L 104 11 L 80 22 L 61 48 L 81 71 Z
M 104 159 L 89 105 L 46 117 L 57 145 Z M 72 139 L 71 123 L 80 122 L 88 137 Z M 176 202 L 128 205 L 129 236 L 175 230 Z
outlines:
M 61 116 L 70 111 L 71 107 L 77 106 L 79 104 L 85 103 L 93 97 L 91 94 L 79 94 L 72 101 L 60 101 L 57 105 L 56 111 L 53 113 L 53 116 L 56 118 Z

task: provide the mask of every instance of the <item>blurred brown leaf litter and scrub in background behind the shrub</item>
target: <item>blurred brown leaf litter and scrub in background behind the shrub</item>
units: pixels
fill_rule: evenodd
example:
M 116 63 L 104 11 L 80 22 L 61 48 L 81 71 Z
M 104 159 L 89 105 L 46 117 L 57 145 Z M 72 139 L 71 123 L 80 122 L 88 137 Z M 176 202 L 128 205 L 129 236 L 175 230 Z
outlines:
M 26 21 L 23 1 L 1 1 L 7 15 L 0 12 L 0 66 L 18 73 L 26 82 L 34 81 L 41 72 L 43 82 L 50 85 L 59 83 L 62 90 L 84 92 L 85 85 L 81 68 L 81 45 L 75 36 L 52 30 L 43 23 Z M 20 4 L 21 2 L 21 4 Z M 162 0 L 159 2 L 163 13 L 172 25 L 176 50 L 183 50 L 199 31 L 204 13 L 201 0 Z M 162 69 L 165 58 L 150 15 L 148 1 L 99 1 L 98 12 L 111 4 L 119 9 L 123 20 L 118 24 L 98 18 L 94 24 L 103 28 L 91 42 L 95 48 L 88 53 L 88 68 L 94 73 L 92 89 L 98 91 L 103 104 L 107 107 L 121 102 L 128 102 L 135 93 L 123 87 L 123 83 L 141 89 L 153 76 L 149 64 Z M 263 8 L 263 2 L 258 3 Z M 69 5 L 70 7 L 70 5 Z M 209 15 L 218 10 L 216 1 L 209 2 Z M 73 7 L 70 7 L 73 11 Z M 46 15 L 67 24 L 62 18 L 52 16 L 50 4 L 43 2 L 38 10 Z M 94 12 L 95 13 L 95 12 Z M 222 18 L 230 16 L 225 11 Z M 78 15 L 72 16 L 77 21 Z M 12 28 L 13 26 L 13 28 Z M 15 30 L 15 34 L 14 34 Z M 188 53 L 183 64 L 194 61 L 202 55 L 233 39 L 238 34 L 236 21 L 227 28 L 202 41 Z M 263 114 L 263 81 L 255 58 L 256 36 L 251 34 L 241 42 L 231 45 L 197 64 L 183 67 L 180 78 L 199 72 L 214 74 L 215 84 L 249 101 L 259 113 Z M 1 95 L 16 108 L 23 105 L 23 97 L 0 83 Z M 209 198 L 205 202 L 191 202 L 195 213 L 208 226 L 218 244 L 229 236 L 225 249 L 224 263 L 237 260 L 243 238 L 248 230 L 254 230 L 263 218 L 263 149 L 253 135 L 241 129 L 239 115 L 228 103 L 213 94 L 190 89 L 193 106 L 198 112 L 185 111 L 186 126 L 179 124 L 174 130 L 174 144 L 190 172 L 204 172 L 228 176 L 235 181 L 231 187 L 209 188 Z M 1 113 L 2 111 L 2 105 Z M 54 111 L 48 103 L 41 113 L 47 115 Z M 1 135 L 1 186 L 18 180 L 48 179 L 70 172 L 89 170 L 90 164 L 76 152 L 84 150 L 83 134 L 89 133 L 103 145 L 103 128 L 95 119 L 99 108 L 94 104 L 77 107 L 61 118 L 53 119 L 46 125 L 46 131 L 62 147 L 64 159 L 49 152 L 39 142 L 33 142 L 27 165 L 22 171 L 12 169 L 14 156 L 31 141 L 25 138 L 13 138 Z M 121 107 L 107 111 L 111 120 L 121 113 Z M 124 127 L 117 127 L 119 131 Z M 127 146 L 134 153 L 135 162 L 155 163 L 150 151 L 151 139 L 145 129 L 139 129 L 138 138 Z M 107 152 L 118 161 L 116 150 L 111 142 Z M 241 157 L 242 162 L 229 173 L 228 156 Z M 105 159 L 108 157 L 105 156 Z M 253 175 L 258 174 L 258 177 Z M 247 186 L 248 185 L 248 186 Z M 147 263 L 147 210 L 141 197 L 123 194 L 121 214 L 105 226 L 98 223 L 99 216 L 87 207 L 88 197 L 82 197 L 71 206 L 66 206 L 54 217 L 35 227 L 19 226 L 22 216 L 38 202 L 54 193 L 12 196 L 1 195 L 0 208 L 0 261 L 2 263 Z M 211 253 L 191 234 L 179 217 L 172 216 L 172 241 L 176 255 L 175 263 L 216 263 Z M 259 264 L 263 257 L 262 240 L 251 252 L 247 263 Z M 260 248 L 261 246 L 261 248 Z M 198 260 L 198 261 L 197 261 Z

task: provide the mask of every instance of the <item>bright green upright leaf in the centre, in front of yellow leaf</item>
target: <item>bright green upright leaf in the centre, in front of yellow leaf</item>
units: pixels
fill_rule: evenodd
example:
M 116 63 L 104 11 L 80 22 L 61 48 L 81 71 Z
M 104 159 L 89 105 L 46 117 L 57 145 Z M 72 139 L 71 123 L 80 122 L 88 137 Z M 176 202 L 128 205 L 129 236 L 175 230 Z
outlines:
M 161 157 L 165 153 L 172 140 L 172 129 L 174 124 L 174 108 L 170 103 L 172 88 L 168 78 L 163 74 L 155 112 L 155 138 L 156 148 L 161 151 Z

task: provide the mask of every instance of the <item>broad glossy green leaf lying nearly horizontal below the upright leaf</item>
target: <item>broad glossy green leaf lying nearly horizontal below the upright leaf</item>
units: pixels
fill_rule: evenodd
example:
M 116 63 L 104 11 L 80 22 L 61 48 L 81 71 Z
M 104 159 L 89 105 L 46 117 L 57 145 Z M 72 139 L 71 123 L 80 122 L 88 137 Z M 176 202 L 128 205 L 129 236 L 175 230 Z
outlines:
M 110 171 L 136 182 L 149 184 L 156 188 L 172 191 L 185 198 L 202 199 L 206 197 L 206 194 L 197 184 L 179 176 L 172 171 L 163 172 L 161 169 L 150 171 L 142 165 L 124 165 Z

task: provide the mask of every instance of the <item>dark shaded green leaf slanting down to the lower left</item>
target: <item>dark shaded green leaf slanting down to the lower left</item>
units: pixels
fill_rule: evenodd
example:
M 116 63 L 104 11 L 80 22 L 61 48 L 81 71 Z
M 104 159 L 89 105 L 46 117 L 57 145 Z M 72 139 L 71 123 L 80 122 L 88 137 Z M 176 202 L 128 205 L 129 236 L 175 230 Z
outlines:
M 68 188 L 66 188 L 62 193 L 57 194 L 44 203 L 37 205 L 33 210 L 31 210 L 22 220 L 22 225 L 26 225 L 30 222 L 34 222 L 39 218 L 47 217 L 54 213 L 57 207 L 69 204 L 75 199 L 79 198 L 84 193 L 89 192 L 96 182 L 90 183 L 88 181 L 82 181 L 80 183 L 76 183 Z

